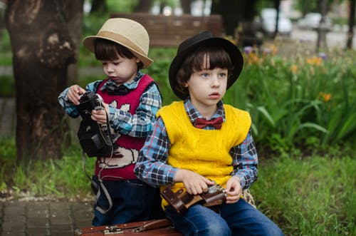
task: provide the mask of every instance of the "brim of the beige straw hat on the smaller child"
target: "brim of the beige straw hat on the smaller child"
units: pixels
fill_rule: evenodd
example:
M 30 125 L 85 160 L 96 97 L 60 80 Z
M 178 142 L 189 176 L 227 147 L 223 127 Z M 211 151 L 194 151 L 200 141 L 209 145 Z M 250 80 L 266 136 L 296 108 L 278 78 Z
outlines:
M 92 53 L 95 53 L 95 39 L 107 39 L 109 41 L 112 41 L 112 42 L 115 42 L 115 43 L 118 43 L 118 44 L 124 46 L 125 48 L 130 50 L 132 52 L 132 54 L 134 54 L 137 58 L 139 58 L 140 61 L 142 61 L 143 68 L 147 68 L 153 62 L 153 60 L 151 58 L 148 58 L 144 54 L 135 50 L 135 48 L 132 48 L 130 45 L 127 45 L 128 43 L 123 43 L 122 41 L 110 39 L 105 36 L 87 36 L 87 37 L 85 37 L 85 39 L 83 39 L 84 46 L 86 48 L 88 48 L 88 50 L 91 51 Z

